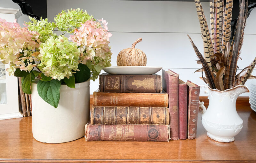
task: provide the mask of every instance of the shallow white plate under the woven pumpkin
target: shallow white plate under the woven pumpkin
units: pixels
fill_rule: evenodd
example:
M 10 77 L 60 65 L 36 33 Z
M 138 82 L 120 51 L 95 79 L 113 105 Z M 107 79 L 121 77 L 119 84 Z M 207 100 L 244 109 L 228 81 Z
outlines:
M 103 68 L 108 74 L 120 75 L 152 75 L 161 69 L 162 67 L 155 66 L 111 66 Z

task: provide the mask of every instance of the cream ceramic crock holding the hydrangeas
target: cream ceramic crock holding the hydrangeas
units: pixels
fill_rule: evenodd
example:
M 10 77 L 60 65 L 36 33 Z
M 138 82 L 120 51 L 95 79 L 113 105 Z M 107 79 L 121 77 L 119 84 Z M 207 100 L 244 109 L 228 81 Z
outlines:
M 64 143 L 84 136 L 90 114 L 90 80 L 75 84 L 76 89 L 60 86 L 57 108 L 46 103 L 32 83 L 33 137 L 44 143 Z

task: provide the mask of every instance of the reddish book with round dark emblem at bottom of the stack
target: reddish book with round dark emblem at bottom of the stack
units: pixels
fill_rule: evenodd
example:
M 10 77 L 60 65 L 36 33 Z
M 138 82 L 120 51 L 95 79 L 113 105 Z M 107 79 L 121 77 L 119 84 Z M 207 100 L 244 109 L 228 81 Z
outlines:
M 86 141 L 168 142 L 168 125 L 85 125 Z

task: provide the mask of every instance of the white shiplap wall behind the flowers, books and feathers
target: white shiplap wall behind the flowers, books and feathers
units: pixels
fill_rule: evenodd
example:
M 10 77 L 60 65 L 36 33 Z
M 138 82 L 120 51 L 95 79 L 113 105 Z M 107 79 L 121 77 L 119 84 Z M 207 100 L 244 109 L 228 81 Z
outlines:
M 209 3 L 201 4 L 206 19 L 209 20 Z M 184 81 L 191 80 L 197 84 L 204 84 L 199 79 L 201 73 L 194 74 L 200 65 L 196 64 L 197 58 L 187 37 L 189 34 L 198 49 L 203 52 L 194 2 L 47 0 L 48 20 L 53 21 L 57 13 L 68 8 L 81 8 L 96 19 L 104 18 L 108 21 L 108 29 L 113 34 L 110 38 L 113 66 L 116 66 L 119 51 L 130 47 L 137 38 L 142 37 L 143 41 L 136 47 L 146 53 L 147 66 L 171 68 L 179 73 L 180 79 Z M 255 17 L 256 10 L 253 10 L 247 19 L 241 54 L 243 61 L 238 61 L 240 68 L 248 66 L 256 56 L 253 50 L 256 42 Z M 252 80 L 248 81 L 247 85 L 251 82 Z M 98 89 L 98 84 L 98 80 L 91 81 L 91 94 Z M 203 91 L 201 95 L 204 95 Z M 243 96 L 249 96 L 249 94 L 243 94 Z

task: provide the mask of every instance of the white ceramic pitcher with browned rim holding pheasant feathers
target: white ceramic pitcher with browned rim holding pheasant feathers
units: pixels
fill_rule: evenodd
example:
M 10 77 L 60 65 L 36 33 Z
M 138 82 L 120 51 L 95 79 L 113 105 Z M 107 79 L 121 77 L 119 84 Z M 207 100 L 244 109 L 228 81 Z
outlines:
M 243 120 L 236 112 L 236 99 L 245 92 L 246 86 L 238 85 L 234 88 L 220 91 L 201 86 L 208 94 L 209 106 L 206 110 L 204 102 L 199 105 L 202 111 L 202 124 L 207 131 L 207 136 L 218 142 L 232 142 L 243 128 Z

